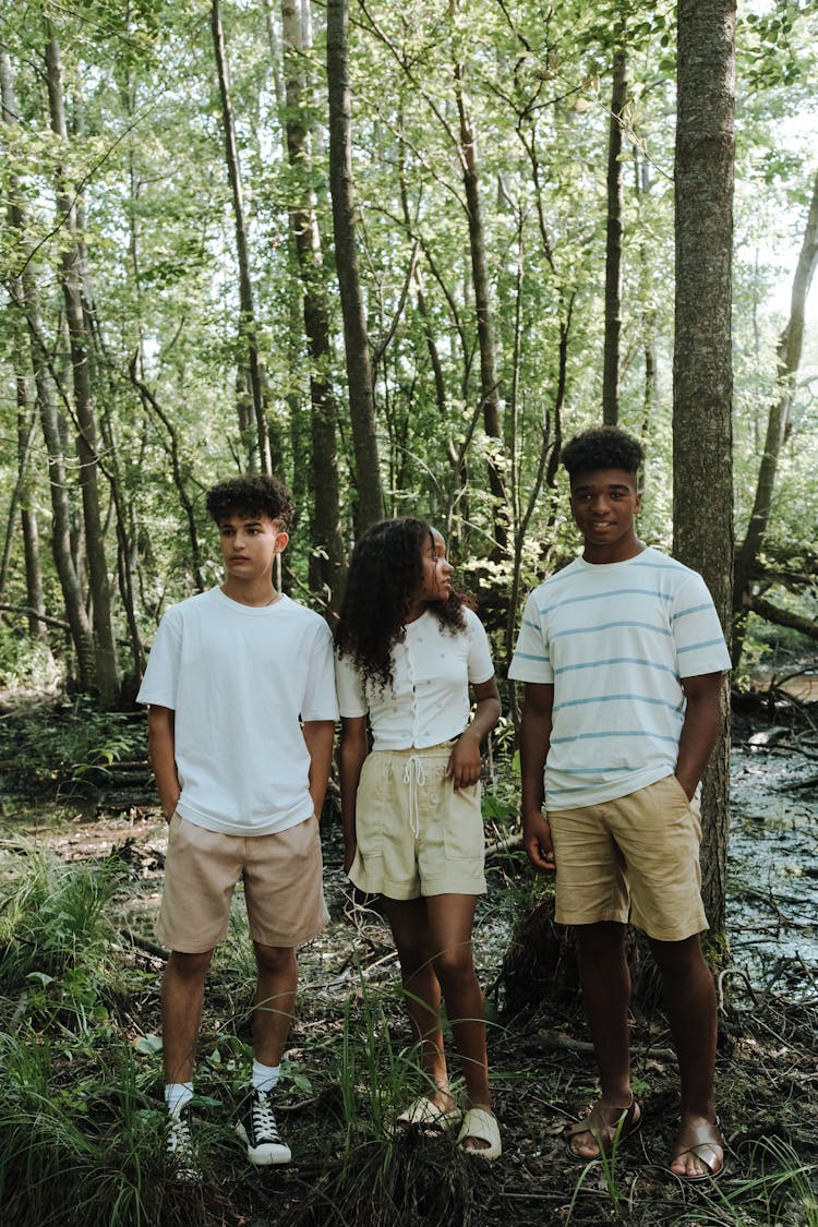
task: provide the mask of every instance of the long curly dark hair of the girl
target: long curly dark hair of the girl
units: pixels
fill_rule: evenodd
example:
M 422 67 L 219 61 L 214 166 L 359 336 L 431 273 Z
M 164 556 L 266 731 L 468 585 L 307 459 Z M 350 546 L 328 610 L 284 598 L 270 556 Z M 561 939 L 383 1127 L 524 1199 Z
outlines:
M 392 683 L 392 648 L 406 638 L 405 621 L 423 583 L 423 545 L 432 526 L 413 515 L 381 520 L 362 534 L 350 558 L 335 642 L 364 681 Z M 453 589 L 430 602 L 441 627 L 465 631 L 465 599 Z

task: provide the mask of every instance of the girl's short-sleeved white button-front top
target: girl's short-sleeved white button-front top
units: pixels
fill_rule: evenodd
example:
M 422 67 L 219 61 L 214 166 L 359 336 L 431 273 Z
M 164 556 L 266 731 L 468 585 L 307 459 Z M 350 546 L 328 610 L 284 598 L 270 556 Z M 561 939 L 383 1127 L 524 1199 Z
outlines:
M 488 637 L 464 607 L 465 631 L 440 626 L 427 610 L 392 648 L 392 686 L 363 679 L 348 656 L 336 661 L 341 715 L 369 713 L 374 750 L 426 750 L 459 737 L 468 724 L 468 685 L 494 675 Z

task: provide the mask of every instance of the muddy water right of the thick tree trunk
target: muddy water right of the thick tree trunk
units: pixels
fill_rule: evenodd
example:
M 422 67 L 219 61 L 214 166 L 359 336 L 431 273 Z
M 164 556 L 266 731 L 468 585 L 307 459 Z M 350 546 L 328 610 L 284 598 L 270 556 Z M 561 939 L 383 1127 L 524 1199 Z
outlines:
M 735 739 L 727 928 L 754 985 L 817 996 L 818 746 L 801 744 L 785 730 Z

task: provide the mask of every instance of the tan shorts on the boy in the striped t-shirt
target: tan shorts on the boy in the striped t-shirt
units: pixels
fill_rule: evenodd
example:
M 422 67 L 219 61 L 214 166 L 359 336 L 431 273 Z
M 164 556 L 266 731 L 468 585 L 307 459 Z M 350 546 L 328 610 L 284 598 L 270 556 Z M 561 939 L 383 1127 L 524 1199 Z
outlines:
M 699 804 L 676 775 L 601 805 L 551 811 L 548 821 L 559 924 L 630 920 L 657 941 L 708 928 Z

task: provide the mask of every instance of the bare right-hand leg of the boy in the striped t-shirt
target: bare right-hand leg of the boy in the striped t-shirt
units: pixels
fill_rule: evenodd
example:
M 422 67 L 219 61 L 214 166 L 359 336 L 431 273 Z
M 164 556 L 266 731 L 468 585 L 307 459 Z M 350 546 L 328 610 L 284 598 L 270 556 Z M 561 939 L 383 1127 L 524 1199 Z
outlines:
M 716 1106 L 716 990 L 698 936 L 684 941 L 650 939 L 662 974 L 665 1009 L 679 1063 L 682 1121 L 679 1135 L 690 1125 L 714 1124 Z M 706 1169 L 695 1155 L 683 1155 L 671 1164 L 677 1175 L 700 1175 Z

